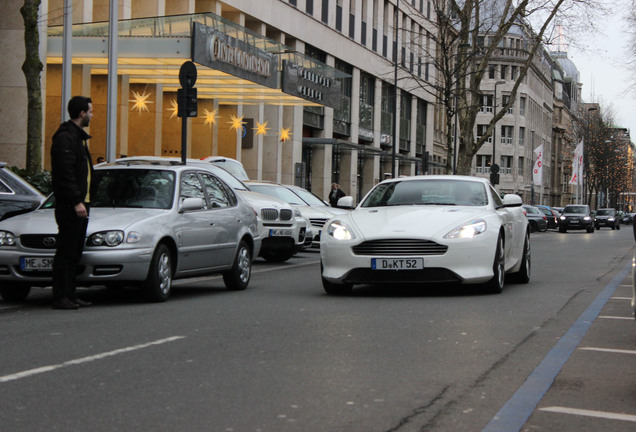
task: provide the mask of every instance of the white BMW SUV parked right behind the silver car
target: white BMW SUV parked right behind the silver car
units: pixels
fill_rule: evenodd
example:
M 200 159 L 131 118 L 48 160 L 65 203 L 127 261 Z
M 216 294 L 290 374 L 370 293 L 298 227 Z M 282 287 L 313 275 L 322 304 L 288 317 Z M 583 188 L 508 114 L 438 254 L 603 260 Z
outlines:
M 125 164 L 151 163 L 167 166 L 183 163 L 180 158 L 158 156 L 133 156 L 117 159 L 117 162 Z M 289 203 L 251 191 L 245 183 L 213 162 L 187 159 L 186 164 L 208 170 L 220 177 L 254 209 L 257 214 L 258 232 L 263 240 L 259 256 L 265 260 L 271 262 L 287 261 L 296 252 L 311 244 L 312 230 L 309 221 Z M 230 165 L 222 166 L 229 167 Z

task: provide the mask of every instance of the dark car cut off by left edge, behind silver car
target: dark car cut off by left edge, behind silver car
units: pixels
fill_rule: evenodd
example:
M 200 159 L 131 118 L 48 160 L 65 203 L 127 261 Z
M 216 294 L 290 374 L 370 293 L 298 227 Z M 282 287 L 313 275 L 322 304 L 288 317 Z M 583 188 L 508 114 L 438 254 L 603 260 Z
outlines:
M 46 197 L 0 162 L 0 220 L 38 208 Z

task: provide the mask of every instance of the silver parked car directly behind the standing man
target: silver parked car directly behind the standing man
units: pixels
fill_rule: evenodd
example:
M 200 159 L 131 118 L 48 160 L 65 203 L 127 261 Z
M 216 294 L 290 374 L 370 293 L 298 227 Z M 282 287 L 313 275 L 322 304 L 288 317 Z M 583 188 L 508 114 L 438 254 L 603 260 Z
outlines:
M 78 285 L 140 286 L 165 301 L 174 279 L 221 273 L 248 286 L 261 247 L 254 210 L 209 171 L 190 166 L 103 164 L 91 178 L 91 214 Z M 57 225 L 55 197 L 0 222 L 0 295 L 25 299 L 49 286 Z

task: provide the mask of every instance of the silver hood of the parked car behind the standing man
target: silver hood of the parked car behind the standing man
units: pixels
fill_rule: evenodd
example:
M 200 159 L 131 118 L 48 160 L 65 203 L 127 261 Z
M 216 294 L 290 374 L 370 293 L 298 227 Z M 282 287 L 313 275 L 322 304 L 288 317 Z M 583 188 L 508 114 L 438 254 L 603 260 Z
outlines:
M 165 214 L 162 209 L 126 209 L 126 208 L 92 208 L 88 224 L 88 232 L 103 229 L 126 230 L 140 220 Z M 55 212 L 53 209 L 32 211 L 17 218 L 0 222 L 0 229 L 20 235 L 25 233 L 48 234 L 57 232 Z

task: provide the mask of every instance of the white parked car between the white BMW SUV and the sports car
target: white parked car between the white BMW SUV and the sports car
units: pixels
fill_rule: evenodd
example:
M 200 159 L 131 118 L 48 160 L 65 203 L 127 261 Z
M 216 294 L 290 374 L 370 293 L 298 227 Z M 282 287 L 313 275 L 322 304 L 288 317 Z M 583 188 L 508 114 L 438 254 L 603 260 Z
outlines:
M 280 198 L 299 209 L 302 215 L 309 220 L 313 228 L 314 238 L 312 245 L 315 247 L 320 246 L 320 234 L 325 222 L 334 215 L 348 213 L 348 210 L 330 207 L 326 202 L 307 189 L 298 186 L 266 181 L 247 181 L 245 183 L 253 191 Z M 347 197 L 340 199 L 344 200 L 345 198 Z

